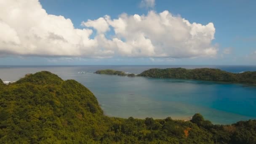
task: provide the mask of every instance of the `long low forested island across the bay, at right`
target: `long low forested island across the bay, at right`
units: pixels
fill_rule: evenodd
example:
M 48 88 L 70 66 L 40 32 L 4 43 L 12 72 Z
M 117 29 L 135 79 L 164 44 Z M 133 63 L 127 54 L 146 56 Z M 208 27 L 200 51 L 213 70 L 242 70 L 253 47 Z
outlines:
M 149 69 L 138 76 L 159 78 L 181 78 L 194 80 L 209 80 L 229 83 L 252 83 L 256 84 L 256 72 L 232 73 L 221 69 Z

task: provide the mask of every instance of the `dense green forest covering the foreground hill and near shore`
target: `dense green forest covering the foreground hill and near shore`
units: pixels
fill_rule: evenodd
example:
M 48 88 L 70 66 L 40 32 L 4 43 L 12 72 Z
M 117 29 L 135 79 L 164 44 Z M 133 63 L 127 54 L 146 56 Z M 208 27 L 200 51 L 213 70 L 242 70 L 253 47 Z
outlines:
M 85 86 L 43 71 L 9 85 L 0 81 L 0 143 L 255 144 L 256 120 L 107 117 Z

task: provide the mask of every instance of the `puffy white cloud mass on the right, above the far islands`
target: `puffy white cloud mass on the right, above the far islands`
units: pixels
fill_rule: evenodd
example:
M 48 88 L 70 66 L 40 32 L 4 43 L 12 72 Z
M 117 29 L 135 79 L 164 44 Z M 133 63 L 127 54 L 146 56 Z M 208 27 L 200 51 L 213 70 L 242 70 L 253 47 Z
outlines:
M 215 33 L 213 23 L 191 24 L 168 11 L 104 19 L 114 28 L 112 42 L 117 46 L 116 53 L 123 56 L 184 58 L 217 53 L 217 48 L 211 45 Z

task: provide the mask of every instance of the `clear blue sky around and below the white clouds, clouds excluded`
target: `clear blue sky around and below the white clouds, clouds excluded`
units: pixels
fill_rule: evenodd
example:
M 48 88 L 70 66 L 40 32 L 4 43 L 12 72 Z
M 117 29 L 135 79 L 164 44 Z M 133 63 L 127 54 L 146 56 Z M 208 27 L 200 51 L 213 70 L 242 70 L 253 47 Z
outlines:
M 126 13 L 128 16 L 134 14 L 147 16 L 149 11 L 162 13 L 167 10 L 172 16 L 186 19 L 191 24 L 193 22 L 202 25 L 213 23 L 215 28 L 214 39 L 211 40 L 208 47 L 214 47 L 216 53 L 209 56 L 203 56 L 203 54 L 195 56 L 186 54 L 186 56 L 183 56 L 180 54 L 181 52 L 175 55 L 168 52 L 163 57 L 152 54 L 129 56 L 129 54 L 116 54 L 116 51 L 115 54 L 107 57 L 104 57 L 104 54 L 89 57 L 84 54 L 79 56 L 66 56 L 67 54 L 48 56 L 47 54 L 38 55 L 38 53 L 7 53 L 0 54 L 0 65 L 255 65 L 256 62 L 255 0 L 246 2 L 243 0 L 155 0 L 155 5 L 151 7 L 141 5 L 140 0 L 40 0 L 40 4 L 48 14 L 70 19 L 75 29 L 91 29 L 93 31 L 90 35 L 91 39 L 96 37 L 99 29 L 94 26 L 88 27 L 88 24 L 86 27 L 81 25 L 83 21 L 87 22 L 88 19 L 93 21 L 108 15 L 114 21 L 114 19 L 120 18 L 122 13 Z M 104 35 L 107 39 L 112 39 L 115 35 L 115 27 L 113 28 L 112 25 L 109 27 Z M 118 37 L 117 33 L 115 37 Z M 145 37 L 147 38 L 147 36 Z M 123 39 L 120 38 L 120 40 Z M 125 42 L 125 40 L 123 41 Z M 156 46 L 154 40 L 152 40 L 152 43 L 153 46 Z M 178 47 L 178 49 L 180 48 Z M 160 50 L 162 49 L 160 48 Z M 172 51 L 176 51 L 176 49 Z

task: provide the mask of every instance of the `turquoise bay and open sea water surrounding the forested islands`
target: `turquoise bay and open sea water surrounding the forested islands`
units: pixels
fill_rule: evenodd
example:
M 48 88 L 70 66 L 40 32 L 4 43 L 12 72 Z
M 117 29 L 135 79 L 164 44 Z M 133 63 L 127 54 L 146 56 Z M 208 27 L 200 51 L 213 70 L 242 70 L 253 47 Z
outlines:
M 64 80 L 75 79 L 95 94 L 106 115 L 115 117 L 171 116 L 173 119 L 187 120 L 199 112 L 215 124 L 256 119 L 256 86 L 253 85 L 92 73 L 105 68 L 140 73 L 152 67 L 154 66 L 0 67 L 0 78 L 13 81 L 27 73 L 48 70 Z M 256 70 L 256 67 L 222 66 L 221 69 L 241 72 Z M 87 73 L 79 74 L 80 71 Z

